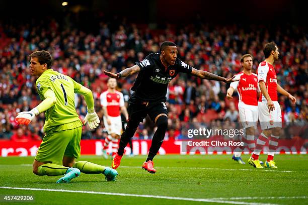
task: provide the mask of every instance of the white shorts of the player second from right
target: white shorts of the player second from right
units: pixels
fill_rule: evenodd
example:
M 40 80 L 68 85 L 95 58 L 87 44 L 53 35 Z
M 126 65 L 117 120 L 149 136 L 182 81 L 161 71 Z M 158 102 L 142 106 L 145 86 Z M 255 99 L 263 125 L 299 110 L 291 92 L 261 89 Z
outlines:
M 239 102 L 239 115 L 240 121 L 244 129 L 255 127 L 257 129 L 258 124 L 258 106 L 246 105 L 244 102 Z

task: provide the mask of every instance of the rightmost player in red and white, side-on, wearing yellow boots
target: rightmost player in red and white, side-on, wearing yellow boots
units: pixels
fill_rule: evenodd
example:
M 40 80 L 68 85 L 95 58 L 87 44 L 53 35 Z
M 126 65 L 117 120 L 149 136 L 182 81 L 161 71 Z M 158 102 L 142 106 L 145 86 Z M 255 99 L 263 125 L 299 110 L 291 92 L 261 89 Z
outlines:
M 265 44 L 263 53 L 265 60 L 258 67 L 258 82 L 262 92 L 258 101 L 258 112 L 262 133 L 257 139 L 256 148 L 248 162 L 256 168 L 263 168 L 260 165 L 259 155 L 262 147 L 269 140 L 269 150 L 264 167 L 277 168 L 273 159 L 282 127 L 277 92 L 287 96 L 292 104 L 295 104 L 296 98 L 277 83 L 277 75 L 273 66 L 279 57 L 277 45 L 274 42 Z

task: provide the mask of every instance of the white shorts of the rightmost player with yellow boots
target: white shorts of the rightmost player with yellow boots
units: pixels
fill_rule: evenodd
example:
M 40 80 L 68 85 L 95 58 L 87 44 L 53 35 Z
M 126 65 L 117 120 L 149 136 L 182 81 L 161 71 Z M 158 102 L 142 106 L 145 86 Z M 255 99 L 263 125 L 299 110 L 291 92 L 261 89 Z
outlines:
M 258 112 L 262 130 L 281 128 L 281 110 L 278 101 L 273 101 L 275 110 L 270 111 L 267 101 L 258 102 Z

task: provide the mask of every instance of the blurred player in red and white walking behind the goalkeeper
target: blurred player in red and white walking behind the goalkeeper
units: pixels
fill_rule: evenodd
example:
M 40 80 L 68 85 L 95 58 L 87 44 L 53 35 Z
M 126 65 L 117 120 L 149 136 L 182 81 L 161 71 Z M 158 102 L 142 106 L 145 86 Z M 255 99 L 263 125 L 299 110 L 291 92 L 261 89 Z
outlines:
M 104 111 L 104 125 L 107 129 L 108 136 L 105 138 L 103 147 L 103 156 L 108 158 L 106 150 L 110 142 L 112 142 L 112 156 L 116 154 L 119 146 L 119 137 L 122 132 L 121 114 L 128 118 L 126 107 L 124 106 L 123 94 L 116 90 L 117 80 L 109 78 L 107 82 L 108 90 L 100 96 L 101 105 Z

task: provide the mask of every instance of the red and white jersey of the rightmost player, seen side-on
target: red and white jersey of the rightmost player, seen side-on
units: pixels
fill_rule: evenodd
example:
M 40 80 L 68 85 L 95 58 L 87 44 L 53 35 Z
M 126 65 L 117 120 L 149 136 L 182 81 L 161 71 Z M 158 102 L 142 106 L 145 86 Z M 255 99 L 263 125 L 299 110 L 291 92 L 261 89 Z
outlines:
M 267 92 L 272 101 L 277 101 L 277 75 L 274 66 L 263 61 L 258 67 L 258 82 L 264 81 Z M 263 94 L 260 94 L 259 102 L 266 101 Z

